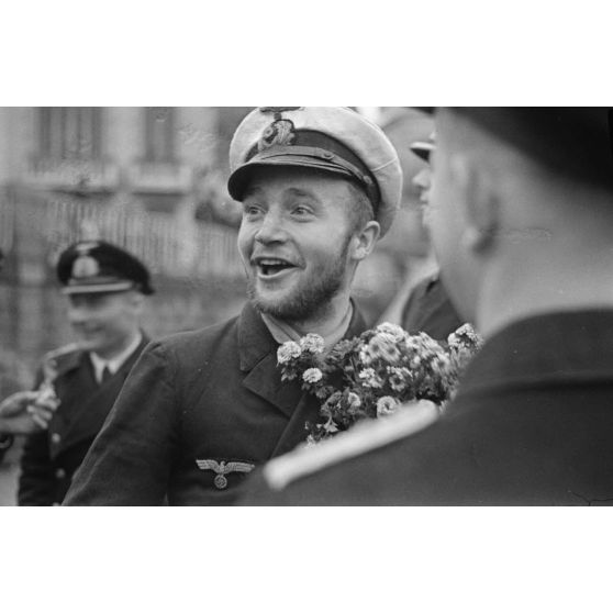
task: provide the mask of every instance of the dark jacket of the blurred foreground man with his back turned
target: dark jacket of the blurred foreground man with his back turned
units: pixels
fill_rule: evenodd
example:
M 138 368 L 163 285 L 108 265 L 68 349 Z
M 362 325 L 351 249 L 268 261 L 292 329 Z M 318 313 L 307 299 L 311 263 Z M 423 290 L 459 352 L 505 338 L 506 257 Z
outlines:
M 393 417 L 391 417 L 393 419 Z M 245 504 L 613 503 L 613 310 L 510 325 L 430 427 Z

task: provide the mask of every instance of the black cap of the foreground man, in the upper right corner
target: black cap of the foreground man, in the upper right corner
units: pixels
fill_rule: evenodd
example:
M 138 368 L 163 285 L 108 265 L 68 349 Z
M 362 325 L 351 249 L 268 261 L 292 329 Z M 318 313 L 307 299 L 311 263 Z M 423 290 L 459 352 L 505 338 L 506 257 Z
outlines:
M 458 107 L 452 111 L 564 176 L 613 189 L 611 109 Z

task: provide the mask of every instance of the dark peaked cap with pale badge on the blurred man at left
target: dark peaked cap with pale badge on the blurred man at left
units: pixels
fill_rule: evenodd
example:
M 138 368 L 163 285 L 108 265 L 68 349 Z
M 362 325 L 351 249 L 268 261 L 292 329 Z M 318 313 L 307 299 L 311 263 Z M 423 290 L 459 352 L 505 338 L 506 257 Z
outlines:
M 80 241 L 59 256 L 57 277 L 62 292 L 108 293 L 135 289 L 152 294 L 149 271 L 126 250 L 104 241 Z

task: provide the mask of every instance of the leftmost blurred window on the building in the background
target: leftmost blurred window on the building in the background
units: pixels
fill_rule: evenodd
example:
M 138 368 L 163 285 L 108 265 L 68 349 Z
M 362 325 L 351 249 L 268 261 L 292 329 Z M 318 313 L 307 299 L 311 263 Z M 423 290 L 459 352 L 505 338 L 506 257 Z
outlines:
M 44 107 L 40 110 L 41 155 L 56 159 L 92 159 L 101 154 L 99 107 Z

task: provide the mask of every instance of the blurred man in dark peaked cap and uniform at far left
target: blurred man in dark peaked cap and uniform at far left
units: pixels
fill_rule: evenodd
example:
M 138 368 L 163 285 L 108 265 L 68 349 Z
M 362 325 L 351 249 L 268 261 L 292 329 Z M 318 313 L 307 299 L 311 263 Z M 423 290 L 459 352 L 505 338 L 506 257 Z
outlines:
M 136 257 L 103 241 L 81 241 L 57 263 L 77 342 L 44 356 L 35 391 L 3 405 L 24 406 L 38 428 L 21 459 L 18 502 L 60 504 L 118 393 L 148 339 L 141 332 L 149 272 Z

